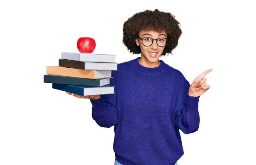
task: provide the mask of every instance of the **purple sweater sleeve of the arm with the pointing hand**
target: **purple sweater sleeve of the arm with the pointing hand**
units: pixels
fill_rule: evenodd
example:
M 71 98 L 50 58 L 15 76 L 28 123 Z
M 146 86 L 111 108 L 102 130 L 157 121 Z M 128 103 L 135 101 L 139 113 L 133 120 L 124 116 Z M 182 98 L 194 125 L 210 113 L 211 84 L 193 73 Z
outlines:
M 175 102 L 175 126 L 183 133 L 189 134 L 196 132 L 199 128 L 199 97 L 188 95 L 189 82 L 183 78 L 176 86 Z

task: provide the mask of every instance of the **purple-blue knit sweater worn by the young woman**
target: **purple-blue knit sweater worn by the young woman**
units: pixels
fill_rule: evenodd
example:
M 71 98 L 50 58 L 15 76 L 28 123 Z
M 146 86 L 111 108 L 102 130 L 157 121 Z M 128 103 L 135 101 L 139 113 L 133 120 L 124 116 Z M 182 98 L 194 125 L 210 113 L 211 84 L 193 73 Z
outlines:
M 139 58 L 112 71 L 115 94 L 90 99 L 92 117 L 101 127 L 114 126 L 113 150 L 123 165 L 174 165 L 183 155 L 179 129 L 199 127 L 199 97 L 188 95 L 189 82 L 165 64 L 143 67 Z

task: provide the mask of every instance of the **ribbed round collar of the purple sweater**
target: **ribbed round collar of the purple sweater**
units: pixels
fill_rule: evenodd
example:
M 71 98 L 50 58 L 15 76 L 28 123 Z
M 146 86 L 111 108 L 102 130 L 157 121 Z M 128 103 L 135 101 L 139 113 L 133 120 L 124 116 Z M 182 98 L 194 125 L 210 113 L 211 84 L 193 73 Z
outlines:
M 169 65 L 165 64 L 162 60 L 159 60 L 161 63 L 158 67 L 155 68 L 148 68 L 144 67 L 139 63 L 139 58 L 135 58 L 134 60 L 131 60 L 131 67 L 134 69 L 135 72 L 139 73 L 140 75 L 145 75 L 145 76 L 157 76 L 161 75 L 163 72 L 168 69 Z

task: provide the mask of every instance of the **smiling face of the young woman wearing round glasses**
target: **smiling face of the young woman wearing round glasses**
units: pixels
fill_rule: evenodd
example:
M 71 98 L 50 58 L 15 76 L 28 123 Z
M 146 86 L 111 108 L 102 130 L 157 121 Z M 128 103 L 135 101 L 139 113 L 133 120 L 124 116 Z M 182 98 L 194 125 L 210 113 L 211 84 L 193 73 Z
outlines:
M 140 31 L 139 32 L 140 38 L 150 37 L 153 39 L 158 38 L 167 38 L 166 32 L 154 32 L 154 31 Z M 157 41 L 153 40 L 154 42 L 150 46 L 143 45 L 142 41 L 137 38 L 136 44 L 137 46 L 140 46 L 141 49 L 141 57 L 140 57 L 140 64 L 144 67 L 158 67 L 160 65 L 159 57 L 163 53 L 163 49 L 165 46 L 160 47 L 157 45 Z M 160 43 L 162 40 L 159 40 Z M 158 44 L 159 44 L 158 43 Z M 144 43 L 145 44 L 145 43 Z

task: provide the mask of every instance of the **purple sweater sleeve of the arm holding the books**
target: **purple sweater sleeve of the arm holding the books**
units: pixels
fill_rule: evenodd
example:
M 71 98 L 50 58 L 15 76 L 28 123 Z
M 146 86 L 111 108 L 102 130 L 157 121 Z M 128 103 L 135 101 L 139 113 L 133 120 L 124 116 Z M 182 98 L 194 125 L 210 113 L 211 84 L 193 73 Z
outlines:
M 101 127 L 111 127 L 118 124 L 118 116 L 116 112 L 116 71 L 112 71 L 110 85 L 114 87 L 114 93 L 110 95 L 101 95 L 100 98 L 93 100 L 92 117 L 95 122 Z

